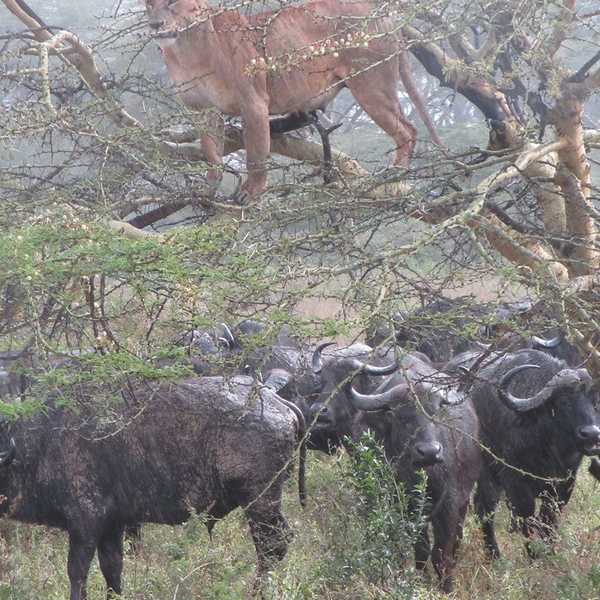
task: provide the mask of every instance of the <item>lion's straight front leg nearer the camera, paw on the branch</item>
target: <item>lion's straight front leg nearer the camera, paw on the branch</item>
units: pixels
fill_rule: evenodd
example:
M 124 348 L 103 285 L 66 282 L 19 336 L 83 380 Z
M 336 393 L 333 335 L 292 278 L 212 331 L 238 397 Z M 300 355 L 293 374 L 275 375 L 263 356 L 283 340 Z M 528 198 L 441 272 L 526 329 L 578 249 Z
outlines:
M 244 204 L 260 196 L 267 187 L 267 159 L 271 146 L 268 100 L 254 96 L 242 111 L 248 179 L 237 201 Z

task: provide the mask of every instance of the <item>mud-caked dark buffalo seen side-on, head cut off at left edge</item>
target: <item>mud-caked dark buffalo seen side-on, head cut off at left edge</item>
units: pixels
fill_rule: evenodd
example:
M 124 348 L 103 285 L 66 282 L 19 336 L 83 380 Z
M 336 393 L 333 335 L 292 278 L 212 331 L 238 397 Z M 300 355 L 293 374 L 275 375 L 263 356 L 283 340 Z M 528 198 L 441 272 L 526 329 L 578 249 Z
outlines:
M 2 512 L 68 532 L 71 600 L 85 598 L 96 550 L 109 590 L 121 592 L 126 526 L 181 523 L 192 510 L 213 522 L 242 507 L 259 574 L 285 555 L 281 495 L 303 435 L 297 411 L 245 376 L 118 395 L 118 412 L 113 395 L 98 416 L 102 403 L 79 389 L 76 410 L 49 399 L 43 413 L 0 428 Z

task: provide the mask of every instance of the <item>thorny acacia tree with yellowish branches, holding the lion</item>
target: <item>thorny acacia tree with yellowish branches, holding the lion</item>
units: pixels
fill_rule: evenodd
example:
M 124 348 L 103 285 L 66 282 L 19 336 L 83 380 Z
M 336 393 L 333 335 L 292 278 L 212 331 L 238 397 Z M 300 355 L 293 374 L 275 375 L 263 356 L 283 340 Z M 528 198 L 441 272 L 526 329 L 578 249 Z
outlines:
M 18 94 L 0 113 L 2 139 L 36 148 L 2 173 L 3 260 L 18 267 L 5 271 L 2 321 L 17 346 L 148 356 L 183 323 L 264 311 L 289 320 L 299 306 L 315 333 L 357 335 L 415 295 L 493 273 L 545 299 L 597 361 L 588 152 L 600 134 L 584 127 L 600 84 L 592 2 L 390 4 L 405 47 L 480 111 L 487 143 L 428 148 L 402 172 L 373 172 L 334 150 L 338 181 L 325 186 L 311 173 L 320 143 L 286 133 L 294 124 L 284 118 L 272 150 L 286 159 L 274 159 L 269 193 L 248 209 L 202 191 L 203 117 L 164 93 L 159 61 L 143 64 L 139 10 L 119 6 L 85 43 L 23 0 L 3 3 L 22 29 L 3 36 L 3 78 Z M 102 57 L 115 46 L 129 58 L 109 74 Z M 226 153 L 241 147 L 230 124 Z M 182 209 L 180 221 L 202 227 L 152 229 Z M 344 320 L 318 319 L 322 299 Z M 131 314 L 144 315 L 137 329 Z

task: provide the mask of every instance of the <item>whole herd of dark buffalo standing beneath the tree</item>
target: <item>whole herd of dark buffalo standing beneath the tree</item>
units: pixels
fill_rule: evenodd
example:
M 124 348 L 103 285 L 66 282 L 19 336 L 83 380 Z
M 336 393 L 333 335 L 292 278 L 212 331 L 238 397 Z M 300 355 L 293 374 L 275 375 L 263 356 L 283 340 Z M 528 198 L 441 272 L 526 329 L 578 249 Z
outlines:
M 66 530 L 71 600 L 85 598 L 96 551 L 109 594 L 121 593 L 127 528 L 194 512 L 211 528 L 237 507 L 260 579 L 287 550 L 282 485 L 296 456 L 304 503 L 306 448 L 352 455 L 371 431 L 404 489 L 427 474 L 429 523 L 415 562 L 422 569 L 431 559 L 450 591 L 471 498 L 490 558 L 500 556 L 502 496 L 534 557 L 534 540 L 556 534 L 583 457 L 600 454 L 586 357 L 554 322 L 525 334 L 532 306 L 441 299 L 347 346 L 311 347 L 287 325 L 258 321 L 189 331 L 174 341 L 189 357 L 185 379 L 99 390 L 81 378 L 68 394 L 53 388 L 43 410 L 3 419 L 0 511 Z M 9 403 L 36 396 L 36 367 L 24 361 L 0 356 Z M 595 458 L 590 472 L 600 479 Z

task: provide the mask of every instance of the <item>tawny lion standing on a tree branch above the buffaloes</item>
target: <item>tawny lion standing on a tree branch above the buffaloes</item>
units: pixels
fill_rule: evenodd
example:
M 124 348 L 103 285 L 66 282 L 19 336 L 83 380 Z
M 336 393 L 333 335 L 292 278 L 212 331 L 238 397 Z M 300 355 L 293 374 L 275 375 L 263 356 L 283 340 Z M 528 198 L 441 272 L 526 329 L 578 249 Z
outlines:
M 244 15 L 207 0 L 145 0 L 148 23 L 184 104 L 242 118 L 247 179 L 237 200 L 267 186 L 269 116 L 323 110 L 344 88 L 395 142 L 394 165 L 408 166 L 416 129 L 397 94 L 406 91 L 441 145 L 410 74 L 397 23 L 374 4 L 315 0 Z M 222 119 L 201 138 L 209 164 L 223 159 Z M 209 172 L 218 185 L 219 168 Z

